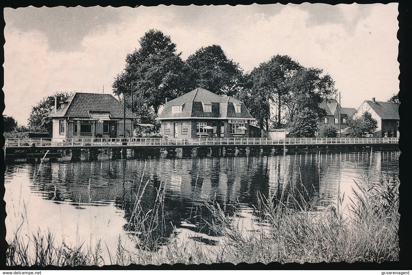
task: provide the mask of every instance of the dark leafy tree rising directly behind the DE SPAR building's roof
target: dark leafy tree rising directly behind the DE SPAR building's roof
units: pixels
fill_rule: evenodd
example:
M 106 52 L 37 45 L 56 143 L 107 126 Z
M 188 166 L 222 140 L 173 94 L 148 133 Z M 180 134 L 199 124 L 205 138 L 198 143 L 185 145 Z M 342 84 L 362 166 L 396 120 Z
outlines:
M 219 95 L 234 96 L 241 91 L 243 72 L 229 60 L 219 45 L 201 47 L 186 60 L 192 88 L 202 87 Z

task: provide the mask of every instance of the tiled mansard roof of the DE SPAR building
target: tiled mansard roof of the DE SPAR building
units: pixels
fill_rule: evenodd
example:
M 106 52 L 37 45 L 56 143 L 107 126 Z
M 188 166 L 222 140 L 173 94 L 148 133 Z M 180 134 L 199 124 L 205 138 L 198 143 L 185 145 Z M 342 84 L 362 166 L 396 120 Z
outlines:
M 211 103 L 212 112 L 203 112 L 202 103 Z M 241 105 L 241 112 L 236 113 L 233 103 Z M 172 106 L 183 105 L 182 112 L 172 113 Z M 239 117 L 253 119 L 243 102 L 230 96 L 219 96 L 206 89 L 197 88 L 165 104 L 158 119 L 178 117 Z

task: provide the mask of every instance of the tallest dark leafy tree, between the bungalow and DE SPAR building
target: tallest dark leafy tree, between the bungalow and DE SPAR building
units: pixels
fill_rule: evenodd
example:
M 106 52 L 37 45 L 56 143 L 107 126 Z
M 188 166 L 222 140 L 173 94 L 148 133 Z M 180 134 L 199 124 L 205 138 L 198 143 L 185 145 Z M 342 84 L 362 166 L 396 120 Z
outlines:
M 180 58 L 181 53 L 176 54 L 176 44 L 160 30 L 149 30 L 139 43 L 140 48 L 127 55 L 126 68 L 117 75 L 112 87 L 115 94 L 126 96 L 126 103 L 131 107 L 133 81 L 134 96 L 140 98 L 133 109 L 143 102 L 153 107 L 157 115 L 166 97 L 176 98 L 187 92 L 185 72 L 188 69 Z

